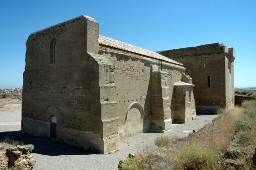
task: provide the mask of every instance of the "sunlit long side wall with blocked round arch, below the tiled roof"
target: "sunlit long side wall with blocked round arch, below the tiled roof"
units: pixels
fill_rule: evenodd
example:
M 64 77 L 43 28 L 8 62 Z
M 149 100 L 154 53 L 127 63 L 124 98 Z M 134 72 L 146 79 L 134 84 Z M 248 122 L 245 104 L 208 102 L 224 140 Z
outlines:
M 119 136 L 146 132 L 150 128 L 151 130 L 155 129 L 155 127 L 152 126 L 152 111 L 154 110 L 152 110 L 153 104 L 151 105 L 151 103 L 154 103 L 152 102 L 152 96 L 154 96 L 152 91 L 161 94 L 160 99 L 162 102 L 158 107 L 161 106 L 162 111 L 169 114 L 164 116 L 168 117 L 168 121 L 164 117 L 162 119 L 162 122 L 169 122 L 169 125 L 166 125 L 166 128 L 162 125 L 160 131 L 169 129 L 172 124 L 172 118 L 174 118 L 174 98 L 172 98 L 174 93 L 173 85 L 175 82 L 181 80 L 182 72 L 184 72 L 185 69 L 174 64 L 161 64 L 161 61 L 155 59 L 148 59 L 139 55 L 105 47 L 100 47 L 99 54 L 109 59 L 115 66 L 114 84 L 116 85 Z M 166 76 L 165 81 L 168 90 L 165 90 L 164 93 L 169 97 L 169 99 L 165 101 L 166 108 L 163 108 L 162 89 L 152 89 L 154 88 L 153 80 L 159 83 L 161 87 L 161 79 L 158 81 L 155 79 L 156 77 L 151 70 L 152 66 L 155 69 L 154 71 L 159 72 L 159 74 L 165 72 L 163 74 Z M 163 85 L 165 85 L 165 83 Z M 132 123 L 132 119 L 135 119 L 137 123 Z

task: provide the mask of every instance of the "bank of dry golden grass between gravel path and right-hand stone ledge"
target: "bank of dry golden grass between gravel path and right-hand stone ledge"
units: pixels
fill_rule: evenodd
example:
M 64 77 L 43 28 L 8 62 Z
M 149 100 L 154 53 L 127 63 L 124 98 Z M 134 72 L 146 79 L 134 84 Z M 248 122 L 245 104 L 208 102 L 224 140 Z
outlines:
M 211 170 L 221 168 L 220 153 L 226 151 L 234 137 L 236 118 L 243 108 L 218 110 L 219 116 L 204 131 L 188 138 L 172 141 L 160 136 L 155 140 L 158 149 L 149 149 L 143 156 L 136 156 L 139 165 L 154 170 Z M 141 157 L 140 159 L 138 157 Z M 130 162 L 134 159 L 130 159 Z M 132 164 L 132 163 L 130 163 Z M 143 164 L 143 165 L 142 165 Z M 135 170 L 125 168 L 126 170 Z

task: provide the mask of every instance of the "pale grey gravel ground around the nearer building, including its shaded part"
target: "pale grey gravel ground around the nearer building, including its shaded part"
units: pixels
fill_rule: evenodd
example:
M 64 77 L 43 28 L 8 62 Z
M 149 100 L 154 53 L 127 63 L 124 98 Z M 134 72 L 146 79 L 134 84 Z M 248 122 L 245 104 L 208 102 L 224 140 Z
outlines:
M 173 124 L 173 129 L 169 132 L 148 132 L 122 138 L 120 151 L 111 154 L 85 152 L 54 139 L 26 136 L 21 133 L 20 125 L 0 124 L 0 140 L 4 136 L 10 136 L 14 140 L 22 140 L 25 144 L 34 144 L 35 149 L 32 153 L 36 160 L 36 170 L 117 170 L 121 158 L 126 158 L 129 153 L 141 153 L 143 149 L 154 149 L 156 147 L 154 139 L 157 136 L 185 137 L 193 130 L 197 131 L 205 124 L 212 122 L 216 117 L 217 115 L 198 114 L 196 119 L 189 123 Z M 20 120 L 21 109 L 0 110 L 0 123 Z

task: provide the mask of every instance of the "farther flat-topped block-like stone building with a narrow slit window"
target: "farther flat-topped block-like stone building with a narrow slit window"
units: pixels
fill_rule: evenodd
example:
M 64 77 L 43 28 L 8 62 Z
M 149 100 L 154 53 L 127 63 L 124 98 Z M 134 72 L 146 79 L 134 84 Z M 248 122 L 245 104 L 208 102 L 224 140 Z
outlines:
M 234 49 L 225 44 L 159 51 L 161 55 L 186 66 L 185 73 L 195 84 L 197 112 L 216 112 L 234 107 Z

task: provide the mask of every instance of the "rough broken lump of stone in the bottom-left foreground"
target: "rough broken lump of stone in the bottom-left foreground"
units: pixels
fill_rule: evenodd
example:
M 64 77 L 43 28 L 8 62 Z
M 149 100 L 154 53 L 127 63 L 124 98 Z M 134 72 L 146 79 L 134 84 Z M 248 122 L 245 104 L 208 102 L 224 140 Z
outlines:
M 24 146 L 9 147 L 6 149 L 6 156 L 9 158 L 9 166 L 17 166 L 21 170 L 33 170 L 35 159 L 31 154 L 34 149 L 32 144 Z

